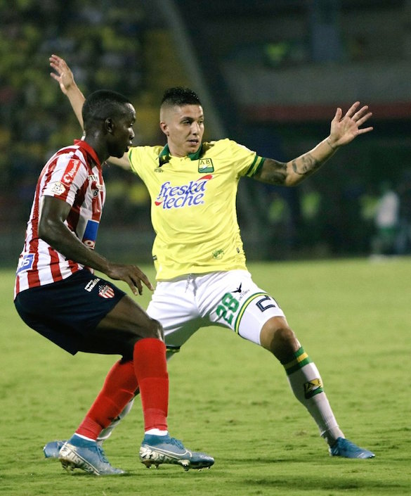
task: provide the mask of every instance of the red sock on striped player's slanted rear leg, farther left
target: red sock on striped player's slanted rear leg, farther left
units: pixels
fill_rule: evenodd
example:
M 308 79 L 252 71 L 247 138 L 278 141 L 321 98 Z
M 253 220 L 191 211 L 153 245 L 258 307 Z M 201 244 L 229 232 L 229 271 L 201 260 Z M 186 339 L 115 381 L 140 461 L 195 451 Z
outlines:
M 115 363 L 105 378 L 103 389 L 77 429 L 77 434 L 97 439 L 103 428 L 109 426 L 138 388 L 133 362 Z

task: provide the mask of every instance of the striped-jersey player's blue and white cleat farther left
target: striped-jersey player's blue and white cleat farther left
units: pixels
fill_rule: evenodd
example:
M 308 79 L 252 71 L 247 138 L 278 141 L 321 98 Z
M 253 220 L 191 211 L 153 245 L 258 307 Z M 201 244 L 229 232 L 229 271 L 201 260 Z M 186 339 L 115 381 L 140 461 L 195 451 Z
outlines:
M 63 469 L 81 469 L 96 476 L 117 476 L 125 473 L 115 469 L 105 457 L 103 448 L 96 441 L 80 438 L 78 435 L 64 443 L 58 452 Z

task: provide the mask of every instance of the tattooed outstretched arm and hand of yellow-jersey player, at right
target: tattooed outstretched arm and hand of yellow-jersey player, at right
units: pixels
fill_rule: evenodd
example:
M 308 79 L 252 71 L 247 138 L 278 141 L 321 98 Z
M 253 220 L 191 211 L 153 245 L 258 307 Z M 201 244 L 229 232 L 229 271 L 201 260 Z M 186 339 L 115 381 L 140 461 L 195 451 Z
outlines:
M 359 134 L 372 131 L 372 127 L 360 128 L 372 113 L 368 111 L 368 106 L 358 109 L 359 106 L 360 102 L 355 102 L 344 116 L 341 108 L 337 108 L 334 119 L 331 121 L 330 136 L 320 141 L 312 150 L 289 162 L 278 162 L 272 158 L 266 158 L 254 179 L 283 186 L 299 184 L 325 164 L 340 146 L 350 143 Z

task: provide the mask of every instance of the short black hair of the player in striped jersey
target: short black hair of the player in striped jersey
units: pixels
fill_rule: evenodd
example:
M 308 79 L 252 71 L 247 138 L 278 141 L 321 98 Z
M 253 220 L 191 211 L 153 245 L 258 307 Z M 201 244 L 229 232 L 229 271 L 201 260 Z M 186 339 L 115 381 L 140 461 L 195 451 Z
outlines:
M 117 93 L 117 91 L 110 89 L 94 91 L 86 98 L 81 109 L 84 129 L 86 130 L 92 122 L 125 115 L 126 103 L 131 103 L 129 98 Z

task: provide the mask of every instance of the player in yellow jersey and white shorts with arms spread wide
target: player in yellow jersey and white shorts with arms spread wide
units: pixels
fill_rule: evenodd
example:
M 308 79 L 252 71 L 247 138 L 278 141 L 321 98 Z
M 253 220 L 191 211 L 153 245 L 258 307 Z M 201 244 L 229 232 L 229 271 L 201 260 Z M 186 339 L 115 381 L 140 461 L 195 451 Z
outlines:
M 70 68 L 55 55 L 50 62 L 55 71 L 52 77 L 59 82 L 82 125 L 84 96 Z M 330 454 L 360 459 L 372 458 L 374 453 L 345 438 L 317 367 L 278 303 L 252 281 L 247 271 L 235 196 L 243 176 L 296 186 L 340 146 L 370 132 L 372 127 L 362 126 L 371 115 L 359 102 L 345 114 L 337 108 L 326 139 L 294 160 L 281 163 L 230 139 L 203 143 L 200 99 L 190 89 L 171 88 L 165 91 L 159 115 L 167 145 L 131 147 L 123 158 L 112 160 L 138 174 L 150 192 L 157 286 L 147 312 L 161 322 L 167 345 L 180 347 L 197 329 L 209 325 L 229 327 L 261 345 L 285 368 L 294 395 L 318 425 Z M 110 435 L 113 426 L 100 435 L 101 440 Z M 58 447 L 59 442 L 48 443 L 46 457 L 54 456 Z

